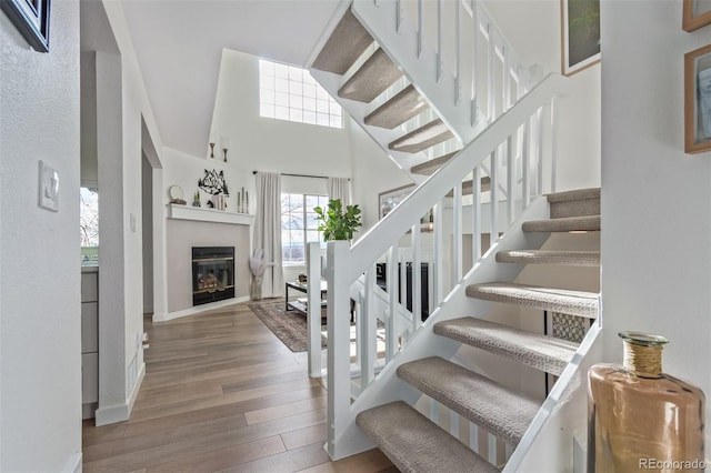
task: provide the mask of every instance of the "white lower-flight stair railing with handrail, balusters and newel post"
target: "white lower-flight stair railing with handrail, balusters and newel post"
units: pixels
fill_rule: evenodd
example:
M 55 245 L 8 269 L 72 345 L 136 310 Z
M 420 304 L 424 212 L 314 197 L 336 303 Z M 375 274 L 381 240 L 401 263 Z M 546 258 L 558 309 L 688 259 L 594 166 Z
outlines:
M 430 304 L 430 323 L 437 319 L 440 304 L 447 294 L 462 281 L 464 273 L 477 266 L 482 251 L 481 236 L 490 234 L 491 248 L 495 246 L 500 232 L 507 230 L 520 212 L 528 207 L 531 197 L 544 190 L 544 175 L 551 175 L 552 143 L 545 140 L 544 133 L 551 132 L 543 125 L 543 117 L 552 115 L 552 99 L 563 88 L 564 79 L 551 74 L 522 97 L 515 105 L 499 115 L 479 137 L 452 158 L 444 167 L 429 177 L 413 190 L 393 211 L 385 215 L 365 235 L 352 246 L 348 242 L 329 242 L 327 246 L 328 281 L 328 452 L 332 459 L 348 456 L 352 452 L 351 439 L 343 437 L 354 422 L 357 412 L 351 409 L 353 397 L 367 394 L 375 373 L 384 363 L 401 351 L 408 339 L 422 325 L 421 298 L 422 255 L 431 254 L 428 261 L 428 274 L 431 273 L 431 293 L 428 291 Z M 498 167 L 504 159 L 511 162 L 512 153 L 520 154 L 522 175 L 517 167 Z M 491 192 L 489 203 L 483 202 L 480 192 L 481 167 L 489 161 Z M 498 170 L 505 170 L 500 177 Z M 497 170 L 497 171 L 494 171 Z M 473 179 L 472 195 L 462 195 L 462 182 Z M 509 189 L 508 199 L 518 205 L 498 204 L 497 189 L 499 182 L 513 185 Z M 550 178 L 547 185 L 552 185 Z M 484 208 L 489 209 L 484 212 Z M 422 215 L 433 214 L 433 229 L 429 222 L 423 231 Z M 471 236 L 471 240 L 468 240 Z M 451 241 L 451 249 L 450 242 Z M 401 248 L 408 246 L 411 258 L 411 284 L 400 284 L 398 289 L 398 268 L 400 281 L 404 264 L 399 256 Z M 445 251 L 445 246 L 448 250 Z M 463 261 L 464 249 L 472 255 L 469 262 Z M 455 263 L 445 264 L 444 258 L 454 254 Z M 429 259 L 429 258 L 428 258 Z M 379 298 L 375 290 L 375 263 L 387 262 L 388 308 L 375 310 Z M 471 263 L 471 264 L 469 264 Z M 443 269 L 448 268 L 449 271 Z M 359 303 L 362 310 L 357 320 L 357 328 L 351 331 L 350 310 L 352 284 L 361 279 L 362 296 Z M 427 284 L 429 288 L 430 284 Z M 400 294 L 400 298 L 395 295 Z M 382 299 L 382 298 L 381 298 Z M 397 329 L 398 318 L 389 314 L 398 313 L 399 300 L 411 301 L 411 326 L 408 331 Z M 351 336 L 360 346 L 356 354 L 351 353 Z M 379 350 L 379 336 L 387 342 L 387 350 Z M 351 358 L 354 356 L 352 360 Z

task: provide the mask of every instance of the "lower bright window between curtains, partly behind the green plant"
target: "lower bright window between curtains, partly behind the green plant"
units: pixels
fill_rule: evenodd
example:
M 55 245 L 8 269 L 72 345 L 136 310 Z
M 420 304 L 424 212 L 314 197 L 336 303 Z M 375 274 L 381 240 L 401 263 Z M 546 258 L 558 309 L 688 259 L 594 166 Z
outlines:
M 306 263 L 306 243 L 318 241 L 326 248 L 314 207 L 326 207 L 328 195 L 281 194 L 281 258 L 284 265 Z

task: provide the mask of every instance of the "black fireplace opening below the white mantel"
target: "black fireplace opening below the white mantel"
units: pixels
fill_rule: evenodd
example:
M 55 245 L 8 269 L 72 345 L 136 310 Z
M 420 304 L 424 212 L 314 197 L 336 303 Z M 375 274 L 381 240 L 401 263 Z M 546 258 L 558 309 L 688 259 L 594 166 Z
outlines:
M 234 246 L 192 246 L 192 305 L 234 298 Z

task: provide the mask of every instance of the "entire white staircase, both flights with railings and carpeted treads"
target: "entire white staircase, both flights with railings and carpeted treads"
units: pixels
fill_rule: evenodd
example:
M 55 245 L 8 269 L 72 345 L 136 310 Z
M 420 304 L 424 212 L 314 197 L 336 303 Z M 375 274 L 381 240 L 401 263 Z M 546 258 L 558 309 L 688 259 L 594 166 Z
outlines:
M 312 62 L 314 78 L 420 183 L 352 246 L 329 242 L 327 450 L 337 460 L 375 444 L 401 471 L 461 471 L 462 465 L 497 471 L 504 463 L 514 471 L 577 372 L 574 355 L 584 355 L 587 345 L 483 318 L 491 319 L 494 304 L 598 316 L 597 293 L 528 284 L 517 276 L 528 264 L 600 264 L 599 252 L 541 249 L 553 232 L 599 231 L 600 192 L 551 192 L 555 152 L 547 143 L 555 142 L 553 103 L 564 88 L 562 78 L 551 74 L 532 83 L 478 3 L 469 6 L 467 17 L 461 2 L 437 2 L 454 6 L 458 38 L 461 26 L 471 24 L 473 51 L 487 51 L 462 67 L 457 40 L 450 73 L 441 38 L 435 52 L 427 47 L 423 2 L 417 3 L 417 27 L 403 3 L 354 2 Z M 441 18 L 438 12 L 440 23 Z M 394 31 L 388 32 L 388 24 Z M 463 80 L 467 69 L 470 85 Z M 421 225 L 427 213 L 431 233 Z M 385 296 L 375 286 L 375 262 L 387 263 Z M 430 268 L 425 322 L 418 270 L 423 263 Z M 411 290 L 395 282 L 404 280 L 405 264 L 412 268 Z M 343 314 L 350 313 L 356 282 L 353 363 L 350 318 Z M 399 291 L 411 296 L 411 310 Z M 377 328 L 385 331 L 383 359 L 375 350 Z M 545 401 L 553 405 L 541 409 L 540 396 L 460 360 L 463 346 L 560 376 L 562 384 Z M 423 396 L 431 400 L 429 413 L 418 405 Z M 451 412 L 450 432 L 439 425 L 439 406 Z M 470 423 L 468 439 L 459 432 L 459 419 Z M 479 432 L 489 440 L 485 451 L 478 445 Z

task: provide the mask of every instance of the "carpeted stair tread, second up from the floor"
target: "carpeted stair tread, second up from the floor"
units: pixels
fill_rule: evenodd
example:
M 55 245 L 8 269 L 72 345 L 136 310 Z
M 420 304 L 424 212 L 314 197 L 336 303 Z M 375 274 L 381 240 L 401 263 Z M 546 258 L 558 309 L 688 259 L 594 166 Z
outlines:
M 515 446 L 540 403 L 438 356 L 401 364 L 398 376 Z

